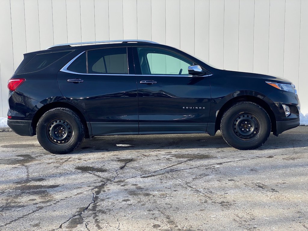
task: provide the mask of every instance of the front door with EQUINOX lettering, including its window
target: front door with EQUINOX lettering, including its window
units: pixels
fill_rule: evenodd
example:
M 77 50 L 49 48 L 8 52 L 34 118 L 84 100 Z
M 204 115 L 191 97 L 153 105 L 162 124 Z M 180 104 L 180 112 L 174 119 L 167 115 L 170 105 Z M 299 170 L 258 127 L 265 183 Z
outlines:
M 209 77 L 188 75 L 188 66 L 194 63 L 171 51 L 133 47 L 133 54 L 140 134 L 205 133 Z

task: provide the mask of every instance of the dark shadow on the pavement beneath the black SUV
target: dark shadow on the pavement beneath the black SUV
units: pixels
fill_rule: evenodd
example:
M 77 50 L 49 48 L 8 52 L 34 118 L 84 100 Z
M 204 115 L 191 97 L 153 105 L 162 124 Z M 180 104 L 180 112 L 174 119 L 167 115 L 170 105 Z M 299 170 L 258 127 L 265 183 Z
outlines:
M 308 127 L 298 127 L 280 134 L 273 134 L 262 145 L 262 149 L 308 147 Z M 230 147 L 221 133 L 216 136 L 208 134 L 171 134 L 171 135 L 134 135 L 134 136 L 95 136 L 84 140 L 78 152 L 108 152 L 119 150 L 157 150 L 157 149 L 190 149 L 190 148 L 223 148 L 225 151 L 236 151 Z

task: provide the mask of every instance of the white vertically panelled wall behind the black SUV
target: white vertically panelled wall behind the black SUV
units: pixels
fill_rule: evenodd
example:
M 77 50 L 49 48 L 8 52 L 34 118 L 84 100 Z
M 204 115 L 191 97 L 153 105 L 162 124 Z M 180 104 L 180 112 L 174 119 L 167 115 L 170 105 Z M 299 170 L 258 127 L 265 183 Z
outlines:
M 219 68 L 290 79 L 308 113 L 308 0 L 0 0 L 0 117 L 23 53 L 111 39 L 153 40 Z

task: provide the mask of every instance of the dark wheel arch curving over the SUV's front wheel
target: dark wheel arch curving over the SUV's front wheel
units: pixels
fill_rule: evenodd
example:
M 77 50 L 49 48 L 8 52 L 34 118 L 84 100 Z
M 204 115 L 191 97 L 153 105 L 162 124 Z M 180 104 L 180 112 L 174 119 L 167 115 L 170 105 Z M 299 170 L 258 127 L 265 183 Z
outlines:
M 215 133 L 218 130 L 220 130 L 220 121 L 221 121 L 221 118 L 224 112 L 228 110 L 228 108 L 234 105 L 235 103 L 242 102 L 242 101 L 249 101 L 249 102 L 257 103 L 258 105 L 263 107 L 264 110 L 267 112 L 267 114 L 270 116 L 271 132 L 274 132 L 274 133 L 276 132 L 277 130 L 276 117 L 270 105 L 266 103 L 263 99 L 260 99 L 256 96 L 241 95 L 241 96 L 237 96 L 237 97 L 230 99 L 220 108 L 220 110 L 218 111 L 217 117 L 216 117 L 216 121 L 215 121 Z

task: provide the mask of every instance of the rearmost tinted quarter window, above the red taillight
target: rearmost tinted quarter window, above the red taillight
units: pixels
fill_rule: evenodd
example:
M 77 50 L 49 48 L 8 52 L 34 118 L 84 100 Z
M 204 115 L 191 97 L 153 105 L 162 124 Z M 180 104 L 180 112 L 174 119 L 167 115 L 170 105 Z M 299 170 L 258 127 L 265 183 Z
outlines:
M 48 67 L 52 63 L 61 59 L 63 56 L 67 55 L 71 51 L 59 51 L 52 53 L 44 53 L 37 54 L 31 59 L 22 69 L 18 72 L 18 74 L 25 74 L 35 71 L 40 71 L 45 67 Z

